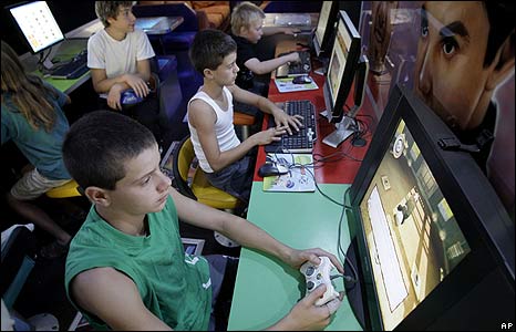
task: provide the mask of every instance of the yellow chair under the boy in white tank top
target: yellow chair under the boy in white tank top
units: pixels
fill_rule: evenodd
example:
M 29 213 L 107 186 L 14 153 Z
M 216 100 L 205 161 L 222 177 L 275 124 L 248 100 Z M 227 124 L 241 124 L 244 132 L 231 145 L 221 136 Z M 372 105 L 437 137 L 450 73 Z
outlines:
M 188 180 L 190 169 L 194 175 Z M 194 145 L 189 136 L 183 138 L 174 152 L 173 174 L 179 193 L 204 205 L 231 212 L 242 204 L 235 196 L 211 186 L 203 169 L 196 166 Z M 218 232 L 215 232 L 215 239 L 225 247 L 239 246 Z

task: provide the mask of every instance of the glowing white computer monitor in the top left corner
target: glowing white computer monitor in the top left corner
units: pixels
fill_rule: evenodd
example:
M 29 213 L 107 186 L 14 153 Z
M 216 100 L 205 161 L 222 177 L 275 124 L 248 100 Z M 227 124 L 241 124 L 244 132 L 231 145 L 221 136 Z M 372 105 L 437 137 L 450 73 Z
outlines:
M 33 54 L 64 40 L 47 1 L 13 4 L 9 7 L 9 11 Z

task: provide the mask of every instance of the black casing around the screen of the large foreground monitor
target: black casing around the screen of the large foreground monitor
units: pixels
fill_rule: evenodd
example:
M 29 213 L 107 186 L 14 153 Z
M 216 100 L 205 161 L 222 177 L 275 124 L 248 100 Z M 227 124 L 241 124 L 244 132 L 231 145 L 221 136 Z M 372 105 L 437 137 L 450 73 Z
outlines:
M 360 217 L 360 203 L 389 149 L 400 120 L 405 122 L 424 155 L 472 251 L 396 329 L 429 329 L 444 324 L 443 321 L 450 320 L 450 315 L 460 320 L 461 314 L 467 314 L 464 308 L 472 305 L 467 301 L 475 297 L 471 295 L 475 294 L 474 289 L 486 288 L 487 280 L 495 278 L 493 276 L 498 276 L 498 279 L 502 276 L 504 280 L 499 284 L 489 286 L 493 287 L 493 291 L 507 289 L 506 297 L 512 300 L 507 301 L 504 298 L 491 301 L 495 303 L 488 304 L 492 305 L 489 313 L 493 315 L 493 312 L 496 312 L 495 308 L 502 310 L 506 307 L 513 308 L 514 312 L 514 224 L 472 156 L 467 152 L 440 148 L 440 138 L 455 137 L 450 128 L 412 92 L 396 85 L 348 197 L 352 210 L 348 214 L 351 218 L 350 231 L 352 237 L 357 237 L 360 257 L 357 264 L 362 274 L 360 282 L 367 317 L 364 329 L 383 330 L 383 323 L 374 278 L 370 272 L 371 260 Z M 482 303 L 474 305 L 479 304 Z M 475 320 L 482 320 L 482 313 L 479 315 Z M 475 320 L 466 320 L 464 324 L 474 325 Z

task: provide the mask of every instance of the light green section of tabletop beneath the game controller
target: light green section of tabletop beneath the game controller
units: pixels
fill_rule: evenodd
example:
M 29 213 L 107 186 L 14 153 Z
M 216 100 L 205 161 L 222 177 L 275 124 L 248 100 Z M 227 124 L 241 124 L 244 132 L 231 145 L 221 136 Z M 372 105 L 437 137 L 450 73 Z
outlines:
M 293 248 L 320 247 L 337 255 L 339 218 L 342 207 L 316 193 L 264 193 L 262 183 L 252 184 L 248 219 Z M 338 201 L 349 185 L 319 185 Z M 344 220 L 341 242 L 350 243 Z M 342 258 L 340 258 L 342 260 Z M 343 282 L 337 279 L 337 290 Z M 299 270 L 278 259 L 242 248 L 235 283 L 228 330 L 261 330 L 272 325 L 302 299 L 305 278 Z M 350 304 L 344 301 L 327 331 L 362 330 Z

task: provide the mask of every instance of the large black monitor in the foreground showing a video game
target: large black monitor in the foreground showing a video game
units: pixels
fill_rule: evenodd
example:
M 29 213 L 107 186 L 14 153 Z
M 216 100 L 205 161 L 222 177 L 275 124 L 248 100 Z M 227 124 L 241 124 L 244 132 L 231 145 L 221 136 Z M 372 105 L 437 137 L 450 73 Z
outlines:
M 393 89 L 347 198 L 359 271 L 348 295 L 364 329 L 514 324 L 514 224 L 471 153 L 406 87 Z

